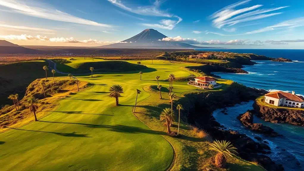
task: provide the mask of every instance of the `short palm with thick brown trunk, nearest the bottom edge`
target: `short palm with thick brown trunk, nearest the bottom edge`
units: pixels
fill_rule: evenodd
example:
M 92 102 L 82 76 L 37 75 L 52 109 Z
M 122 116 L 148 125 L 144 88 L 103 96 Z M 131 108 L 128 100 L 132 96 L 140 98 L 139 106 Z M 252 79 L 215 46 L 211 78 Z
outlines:
M 215 156 L 215 165 L 222 168 L 226 165 L 226 155 L 233 157 L 236 156 L 234 153 L 238 154 L 236 149 L 237 148 L 233 147 L 233 145 L 226 140 L 215 140 L 215 142 L 209 144 L 209 150 L 217 152 Z

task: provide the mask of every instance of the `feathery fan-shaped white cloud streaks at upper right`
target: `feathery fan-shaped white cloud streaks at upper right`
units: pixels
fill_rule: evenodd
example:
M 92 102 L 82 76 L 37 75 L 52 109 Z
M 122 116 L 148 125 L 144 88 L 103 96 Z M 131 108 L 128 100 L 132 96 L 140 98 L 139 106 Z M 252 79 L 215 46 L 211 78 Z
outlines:
M 242 8 L 242 9 L 235 9 L 236 7 L 240 5 L 247 4 L 251 0 L 245 0 L 240 1 L 231 5 L 228 5 L 217 12 L 213 13 L 211 15 L 212 24 L 216 28 L 222 28 L 224 26 L 233 26 L 237 23 L 241 22 L 247 22 L 247 21 L 253 21 L 257 19 L 263 19 L 270 16 L 282 14 L 282 12 L 276 12 L 276 13 L 269 13 L 264 14 L 267 12 L 276 11 L 279 9 L 284 9 L 288 6 L 282 6 L 278 8 L 271 8 L 271 9 L 257 9 L 260 8 L 263 5 L 253 5 L 250 7 Z M 257 10 L 255 10 L 257 9 Z M 252 11 L 254 10 L 254 11 Z

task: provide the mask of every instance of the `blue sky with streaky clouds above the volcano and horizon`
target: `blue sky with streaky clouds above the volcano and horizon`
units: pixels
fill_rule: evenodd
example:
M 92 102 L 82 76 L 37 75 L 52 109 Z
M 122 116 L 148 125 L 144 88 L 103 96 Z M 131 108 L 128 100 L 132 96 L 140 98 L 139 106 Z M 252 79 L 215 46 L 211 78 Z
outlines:
M 152 28 L 204 47 L 304 49 L 303 0 L 0 0 L 0 39 L 102 46 Z

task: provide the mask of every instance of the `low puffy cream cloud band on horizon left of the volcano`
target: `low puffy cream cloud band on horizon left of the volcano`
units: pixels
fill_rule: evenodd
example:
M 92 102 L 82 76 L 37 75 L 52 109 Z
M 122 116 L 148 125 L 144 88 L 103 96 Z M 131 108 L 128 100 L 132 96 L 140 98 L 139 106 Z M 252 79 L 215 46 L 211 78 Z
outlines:
M 96 39 L 87 39 L 87 40 L 77 40 L 73 37 L 52 37 L 48 38 L 47 36 L 31 36 L 31 35 L 0 35 L 0 39 L 7 39 L 7 40 L 38 40 L 42 42 L 57 42 L 57 43 L 96 43 L 96 44 L 102 44 L 102 45 L 108 45 L 113 43 L 128 43 L 128 42 L 120 42 L 120 41 L 100 41 Z

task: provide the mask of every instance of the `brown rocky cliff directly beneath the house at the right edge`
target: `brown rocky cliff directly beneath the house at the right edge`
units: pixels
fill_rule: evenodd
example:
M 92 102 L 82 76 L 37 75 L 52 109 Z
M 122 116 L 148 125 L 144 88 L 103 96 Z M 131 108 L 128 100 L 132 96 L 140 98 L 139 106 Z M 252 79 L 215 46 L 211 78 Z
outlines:
M 271 108 L 254 101 L 253 108 L 257 117 L 273 123 L 290 123 L 304 126 L 304 110 L 290 108 Z

